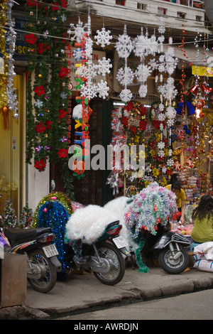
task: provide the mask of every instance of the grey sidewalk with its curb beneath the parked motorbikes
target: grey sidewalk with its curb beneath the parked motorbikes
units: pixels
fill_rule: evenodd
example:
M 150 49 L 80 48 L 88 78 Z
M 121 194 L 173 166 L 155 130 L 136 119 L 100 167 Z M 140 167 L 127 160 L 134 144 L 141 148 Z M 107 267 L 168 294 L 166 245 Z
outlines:
M 72 274 L 66 281 L 57 281 L 49 293 L 36 292 L 28 285 L 26 305 L 0 308 L 0 319 L 48 320 L 93 307 L 147 301 L 212 288 L 213 273 L 194 268 L 171 275 L 160 267 L 139 273 L 137 267 L 133 270 L 128 266 L 124 278 L 115 286 L 102 284 L 93 274 Z

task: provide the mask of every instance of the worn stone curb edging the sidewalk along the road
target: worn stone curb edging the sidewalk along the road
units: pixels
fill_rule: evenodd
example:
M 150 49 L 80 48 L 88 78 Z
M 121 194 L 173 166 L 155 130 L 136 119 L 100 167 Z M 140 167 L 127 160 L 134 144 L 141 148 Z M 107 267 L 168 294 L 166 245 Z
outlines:
M 191 269 L 194 271 L 195 269 Z M 203 273 L 204 274 L 204 273 Z M 171 276 L 170 276 L 171 277 Z M 183 276 L 182 276 L 183 278 Z M 171 296 L 180 296 L 185 293 L 193 293 L 213 289 L 213 275 L 208 276 L 185 276 L 185 279 L 174 279 L 165 281 L 164 279 L 152 286 L 135 286 L 127 291 L 119 291 L 119 294 L 111 296 L 99 294 L 95 301 L 86 301 L 85 303 L 74 303 L 70 306 L 33 308 L 30 306 L 11 306 L 0 308 L 0 320 L 51 320 L 66 315 L 96 311 L 97 309 L 110 308 L 112 306 L 121 306 L 130 303 L 149 301 L 153 299 L 166 298 Z M 55 305 L 55 303 L 54 303 Z

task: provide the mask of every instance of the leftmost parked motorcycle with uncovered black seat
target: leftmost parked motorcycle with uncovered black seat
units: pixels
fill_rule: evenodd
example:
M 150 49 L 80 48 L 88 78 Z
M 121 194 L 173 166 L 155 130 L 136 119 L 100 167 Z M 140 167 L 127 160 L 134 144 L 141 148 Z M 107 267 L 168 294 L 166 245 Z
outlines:
M 5 251 L 26 254 L 27 279 L 35 291 L 47 293 L 53 289 L 57 272 L 61 270 L 58 250 L 50 244 L 54 234 L 50 227 L 32 229 L 6 228 L 4 237 L 9 241 Z

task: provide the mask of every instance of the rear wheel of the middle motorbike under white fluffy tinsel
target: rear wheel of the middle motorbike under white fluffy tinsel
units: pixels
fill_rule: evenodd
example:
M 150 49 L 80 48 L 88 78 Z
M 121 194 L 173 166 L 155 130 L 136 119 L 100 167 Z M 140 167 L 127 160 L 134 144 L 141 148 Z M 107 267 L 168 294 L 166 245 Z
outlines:
M 97 246 L 99 257 L 110 259 L 111 268 L 107 273 L 93 272 L 94 276 L 102 282 L 102 284 L 115 285 L 124 277 L 125 262 L 119 249 L 113 244 L 103 242 Z

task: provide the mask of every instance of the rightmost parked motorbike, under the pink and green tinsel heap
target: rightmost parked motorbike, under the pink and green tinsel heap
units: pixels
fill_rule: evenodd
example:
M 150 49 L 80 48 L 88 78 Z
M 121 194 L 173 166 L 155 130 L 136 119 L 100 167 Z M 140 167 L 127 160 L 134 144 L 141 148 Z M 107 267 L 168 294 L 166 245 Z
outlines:
M 185 247 L 190 246 L 186 237 L 176 232 L 170 232 L 169 226 L 158 227 L 156 235 L 143 232 L 145 244 L 142 249 L 143 259 L 155 255 L 160 266 L 168 274 L 180 274 L 185 271 L 190 262 L 190 256 Z

